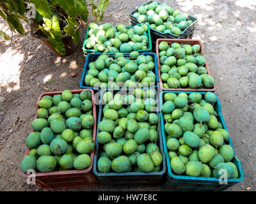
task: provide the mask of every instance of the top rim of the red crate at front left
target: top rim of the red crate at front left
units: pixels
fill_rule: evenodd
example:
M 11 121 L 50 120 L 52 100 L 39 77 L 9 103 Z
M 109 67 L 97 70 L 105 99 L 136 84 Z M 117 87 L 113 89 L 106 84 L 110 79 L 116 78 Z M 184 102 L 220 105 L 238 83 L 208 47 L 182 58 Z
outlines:
M 91 92 L 92 94 L 92 105 L 93 105 L 93 118 L 96 119 L 96 105 L 95 105 L 95 101 L 94 101 L 94 92 L 92 89 L 72 89 L 70 90 L 70 92 L 82 92 L 84 90 L 88 90 Z M 64 91 L 64 90 L 63 90 Z M 38 102 L 40 101 L 40 99 L 43 96 L 49 96 L 49 95 L 57 95 L 57 94 L 61 94 L 63 91 L 51 91 L 51 92 L 43 92 L 42 94 L 40 94 L 40 96 L 38 96 L 38 99 L 36 101 L 36 110 L 38 110 L 39 106 L 38 106 Z M 37 113 L 35 113 L 35 119 L 37 118 Z M 97 122 L 96 120 L 94 120 L 93 122 L 93 141 L 95 142 L 96 140 L 96 126 L 97 126 Z M 33 131 L 33 129 L 31 128 L 31 131 Z M 28 156 L 29 154 L 29 148 L 27 148 L 26 154 L 25 156 Z M 90 166 L 88 166 L 88 168 L 84 169 L 84 170 L 68 170 L 68 171 L 49 171 L 49 172 L 38 172 L 35 173 L 35 177 L 51 177 L 51 176 L 58 176 L 58 175 L 81 175 L 81 174 L 89 174 L 92 172 L 92 168 L 93 168 L 93 156 L 95 154 L 95 149 L 92 150 L 92 152 L 90 152 L 90 157 L 91 157 L 91 164 Z M 24 158 L 23 157 L 23 158 Z M 20 173 L 22 175 L 22 177 L 29 177 L 30 174 L 26 174 L 24 173 L 22 170 L 20 170 Z

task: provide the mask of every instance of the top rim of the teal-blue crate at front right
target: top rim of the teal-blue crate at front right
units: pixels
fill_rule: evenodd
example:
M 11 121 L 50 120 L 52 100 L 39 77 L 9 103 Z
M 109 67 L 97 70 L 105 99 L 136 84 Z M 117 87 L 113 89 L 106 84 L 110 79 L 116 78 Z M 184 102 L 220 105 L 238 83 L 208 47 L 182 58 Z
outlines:
M 161 91 L 159 93 L 159 107 L 161 108 L 161 106 L 163 106 L 163 94 L 164 93 L 180 93 L 180 92 L 185 92 L 186 94 L 191 94 L 193 92 L 196 92 L 196 91 Z M 205 94 L 206 92 L 198 92 L 200 94 Z M 218 113 L 220 115 L 220 118 L 221 118 L 221 122 L 223 123 L 223 129 L 227 129 L 227 126 L 225 124 L 225 120 L 223 119 L 223 115 L 221 113 L 221 104 L 220 104 L 220 100 L 218 99 L 218 96 L 217 96 L 217 101 L 216 101 L 217 105 L 218 105 Z M 163 125 L 164 122 L 163 122 L 163 112 L 161 112 L 161 124 Z M 161 125 L 161 126 L 162 126 Z M 219 179 L 218 178 L 214 178 L 214 177 L 193 177 L 193 176 L 188 176 L 188 175 L 175 175 L 172 173 L 172 169 L 171 169 L 171 166 L 170 166 L 170 159 L 168 157 L 168 150 L 167 150 L 167 147 L 166 147 L 166 142 L 164 141 L 165 140 L 165 132 L 164 132 L 164 128 L 161 127 L 161 130 L 162 130 L 162 136 L 163 136 L 163 145 L 164 145 L 164 153 L 165 153 L 165 156 L 166 156 L 166 165 L 167 165 L 167 168 L 166 168 L 166 172 L 167 172 L 167 175 L 171 178 L 171 179 L 177 179 L 178 180 L 184 180 L 184 181 L 187 181 L 189 182 L 189 180 L 196 180 L 196 181 L 202 181 L 202 182 L 218 182 Z M 231 138 L 229 138 L 229 144 L 230 146 L 232 147 L 232 149 L 234 150 L 234 146 L 232 144 L 232 141 L 231 141 Z M 244 179 L 244 173 L 243 173 L 243 167 L 242 167 L 242 164 L 241 164 L 241 161 L 239 159 L 237 159 L 236 157 L 236 152 L 234 150 L 234 159 L 237 160 L 237 171 L 239 172 L 239 175 L 240 177 L 237 178 L 237 179 L 227 179 L 227 182 L 233 182 L 233 183 L 239 183 L 241 182 L 243 179 Z

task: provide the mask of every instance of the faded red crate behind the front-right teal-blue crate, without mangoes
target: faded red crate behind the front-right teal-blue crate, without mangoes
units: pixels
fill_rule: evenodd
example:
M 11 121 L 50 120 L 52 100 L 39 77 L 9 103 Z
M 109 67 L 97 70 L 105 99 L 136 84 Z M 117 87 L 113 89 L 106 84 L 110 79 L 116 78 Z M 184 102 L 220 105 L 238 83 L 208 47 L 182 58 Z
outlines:
M 188 45 L 200 45 L 201 49 L 200 49 L 200 53 L 204 53 L 204 45 L 202 43 L 201 40 L 191 40 L 191 39 L 157 39 L 156 40 L 156 56 L 157 56 L 157 71 L 158 71 L 158 78 L 159 78 L 159 84 L 160 84 L 160 87 L 163 91 L 200 91 L 200 92 L 207 92 L 207 91 L 211 91 L 211 92 L 215 92 L 216 91 L 216 86 L 214 84 L 214 86 L 211 88 L 211 89 L 184 89 L 184 88 L 177 88 L 177 89 L 174 89 L 174 88 L 164 88 L 163 87 L 163 81 L 161 79 L 161 71 L 160 71 L 160 68 L 161 68 L 161 64 L 160 64 L 160 61 L 159 61 L 159 48 L 158 48 L 158 45 L 159 43 L 161 43 L 162 41 L 166 41 L 168 44 L 172 44 L 172 43 L 183 43 L 183 44 L 188 44 Z M 204 56 L 204 55 L 202 55 Z M 209 70 L 209 67 L 207 65 L 207 62 L 205 62 L 205 65 L 204 65 L 205 69 L 207 70 L 207 74 L 210 75 L 210 70 Z

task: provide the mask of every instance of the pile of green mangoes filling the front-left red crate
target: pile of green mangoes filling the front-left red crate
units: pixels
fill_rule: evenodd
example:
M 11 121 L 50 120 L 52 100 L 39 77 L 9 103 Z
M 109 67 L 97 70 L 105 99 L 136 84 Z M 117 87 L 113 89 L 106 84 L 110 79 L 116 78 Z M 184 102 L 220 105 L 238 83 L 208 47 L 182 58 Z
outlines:
M 93 141 L 92 93 L 43 96 L 38 101 L 37 118 L 31 122 L 33 132 L 26 138 L 30 149 L 20 163 L 26 173 L 84 170 L 91 164 Z

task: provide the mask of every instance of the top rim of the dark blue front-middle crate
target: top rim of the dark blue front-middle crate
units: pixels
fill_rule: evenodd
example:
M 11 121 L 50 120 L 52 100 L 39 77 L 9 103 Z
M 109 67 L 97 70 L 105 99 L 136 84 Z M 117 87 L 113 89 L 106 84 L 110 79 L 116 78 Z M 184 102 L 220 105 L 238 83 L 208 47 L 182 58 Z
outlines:
M 100 91 L 100 101 L 102 101 L 102 96 L 104 94 L 106 90 L 104 91 Z M 124 90 L 125 91 L 125 90 Z M 159 100 L 157 94 L 156 94 L 156 97 L 157 97 L 157 100 Z M 158 101 L 159 103 L 159 101 Z M 99 133 L 99 129 L 98 129 L 98 125 L 99 125 L 99 122 L 101 121 L 101 116 L 102 116 L 102 103 L 100 103 L 99 105 L 99 115 L 98 115 L 98 124 L 97 124 L 97 134 Z M 159 117 L 160 117 L 160 112 L 159 113 Z M 163 136 L 162 136 L 162 131 L 161 131 L 161 123 L 159 122 L 159 138 L 161 136 L 161 139 L 159 139 L 159 143 L 160 143 L 160 147 L 159 147 L 159 150 L 161 151 L 161 154 L 163 156 L 163 161 L 162 161 L 162 164 L 163 164 L 163 169 L 161 171 L 157 171 L 157 172 L 121 172 L 121 173 L 114 173 L 114 172 L 111 172 L 111 173 L 100 173 L 98 170 L 97 170 L 97 154 L 99 152 L 99 143 L 97 142 L 97 138 L 96 138 L 96 148 L 95 148 L 95 154 L 94 154 L 94 158 L 93 158 L 93 173 L 96 177 L 111 177 L 111 176 L 115 176 L 115 177 L 122 177 L 122 176 L 129 176 L 129 177 L 132 177 L 132 176 L 154 176 L 154 175 L 164 175 L 166 173 L 166 170 L 167 170 L 167 167 L 166 167 L 166 157 L 165 157 L 165 152 L 164 152 L 164 146 L 163 146 Z M 161 143 L 162 142 L 162 143 Z

